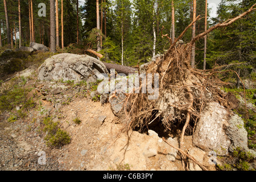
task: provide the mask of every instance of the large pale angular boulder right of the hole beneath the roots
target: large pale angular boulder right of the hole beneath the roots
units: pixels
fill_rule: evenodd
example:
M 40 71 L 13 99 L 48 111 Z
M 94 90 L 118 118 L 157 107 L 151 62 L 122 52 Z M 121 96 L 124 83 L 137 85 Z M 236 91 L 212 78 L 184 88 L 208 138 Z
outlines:
M 211 102 L 201 114 L 193 134 L 193 144 L 204 151 L 216 151 L 217 155 L 227 155 L 237 147 L 249 150 L 247 131 L 237 114 L 229 113 L 217 102 Z

